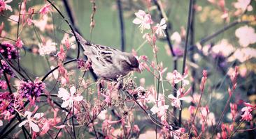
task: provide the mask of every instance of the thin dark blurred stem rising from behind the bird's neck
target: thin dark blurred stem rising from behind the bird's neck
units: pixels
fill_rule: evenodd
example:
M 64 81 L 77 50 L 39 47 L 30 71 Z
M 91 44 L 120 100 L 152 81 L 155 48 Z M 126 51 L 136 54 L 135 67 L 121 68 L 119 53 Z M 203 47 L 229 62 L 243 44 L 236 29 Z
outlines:
M 119 20 L 120 20 L 120 31 L 121 31 L 121 51 L 125 51 L 125 25 L 124 19 L 122 16 L 122 1 L 117 0 L 118 3 L 118 13 L 119 13 Z

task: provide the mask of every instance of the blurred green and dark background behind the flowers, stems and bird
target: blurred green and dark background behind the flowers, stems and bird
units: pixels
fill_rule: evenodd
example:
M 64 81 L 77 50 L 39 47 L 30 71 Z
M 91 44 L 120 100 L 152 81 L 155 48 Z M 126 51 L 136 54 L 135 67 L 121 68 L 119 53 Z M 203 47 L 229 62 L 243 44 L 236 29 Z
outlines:
M 229 17 L 225 20 L 222 18 L 223 11 L 218 6 L 218 4 L 212 4 L 209 1 L 205 0 L 197 0 L 197 6 L 195 17 L 194 17 L 194 47 L 195 44 L 199 42 L 202 38 L 205 38 L 212 33 L 215 33 L 219 29 L 227 26 L 228 24 L 236 21 L 237 19 L 250 19 L 249 15 L 255 16 L 255 0 L 251 1 L 251 6 L 253 10 L 244 13 L 243 15 L 234 16 L 233 14 L 236 12 L 236 8 L 234 8 L 234 3 L 236 1 L 225 1 L 225 8 L 229 13 Z M 29 6 L 34 6 L 36 11 L 38 11 L 41 6 L 43 6 L 44 1 L 28 1 Z M 178 32 L 181 34 L 181 31 L 185 31 L 184 29 L 187 27 L 187 13 L 188 13 L 188 3 L 189 1 L 162 1 L 164 11 L 168 16 L 170 25 L 169 26 L 169 34 L 173 35 L 174 32 Z M 65 17 L 69 19 L 68 15 L 66 15 L 66 10 L 62 1 L 55 1 L 56 6 L 64 13 Z M 96 0 L 97 10 L 94 16 L 95 26 L 90 33 L 90 16 L 92 14 L 92 3 L 89 0 L 76 0 L 69 1 L 71 6 L 71 10 L 73 12 L 73 16 L 75 17 L 76 26 L 79 28 L 80 32 L 83 34 L 87 40 L 95 44 L 104 44 L 106 46 L 115 47 L 120 49 L 121 39 L 120 39 L 120 20 L 118 17 L 118 8 L 116 1 L 105 1 L 105 0 Z M 10 3 L 10 6 L 13 6 L 14 13 L 17 13 L 17 1 L 13 1 Z M 145 2 L 132 0 L 132 1 L 122 1 L 123 8 L 123 16 L 125 22 L 125 51 L 131 52 L 132 49 L 138 49 L 141 44 L 143 44 L 144 40 L 142 38 L 143 34 L 139 31 L 138 26 L 133 24 L 132 21 L 135 18 L 134 13 L 136 13 L 139 9 L 146 11 Z M 159 12 L 156 10 L 157 7 L 152 3 L 152 8 L 150 14 L 152 15 L 152 19 L 154 22 L 158 23 L 160 21 Z M 9 17 L 13 15 L 13 13 L 6 12 L 5 15 Z M 41 17 L 35 16 L 34 19 L 40 19 Z M 255 18 L 255 17 L 254 17 Z M 8 38 L 15 38 L 17 28 L 16 25 L 10 21 L 7 21 L 6 18 L 0 17 L 0 23 L 5 23 L 5 31 L 8 33 Z M 43 36 L 44 40 L 51 39 L 52 42 L 60 43 L 63 38 L 64 31 L 69 31 L 69 27 L 66 23 L 63 22 L 62 18 L 58 13 L 55 12 L 52 8 L 52 13 L 48 17 L 48 23 L 53 24 L 53 26 L 48 26 L 50 29 L 45 29 L 40 31 L 38 27 L 24 28 L 21 34 L 21 38 L 25 44 L 25 46 L 32 48 L 37 47 L 40 43 L 38 39 L 38 33 L 40 36 Z M 220 44 L 222 39 L 227 39 L 229 44 L 236 49 L 241 48 L 236 37 L 235 31 L 237 28 L 244 26 L 245 24 L 237 24 L 236 26 L 232 26 L 227 31 L 221 33 L 217 37 L 209 40 L 201 47 L 207 47 L 209 44 L 213 46 L 215 44 Z M 255 22 L 248 24 L 255 28 Z M 183 29 L 182 29 L 183 28 Z M 62 31 L 64 30 L 64 31 Z M 36 32 L 36 33 L 35 33 Z M 173 44 L 175 43 L 172 41 Z M 180 49 L 183 49 L 185 44 L 185 38 L 179 45 Z M 223 44 L 220 49 L 227 49 L 227 45 Z M 168 44 L 161 38 L 157 40 L 157 47 L 159 47 L 158 58 L 159 61 L 163 63 L 164 67 L 168 67 L 167 72 L 173 72 L 173 60 L 172 56 L 169 54 Z M 192 46 L 190 46 L 192 47 Z M 248 47 L 253 49 L 256 48 L 255 43 L 250 44 Z M 167 48 L 167 49 L 166 49 Z M 255 50 L 254 50 L 255 51 Z M 145 43 L 137 52 L 138 56 L 146 55 L 150 60 L 153 60 L 152 48 L 149 44 Z M 211 53 L 211 52 L 210 52 Z M 82 54 L 82 53 L 81 53 Z M 190 56 L 190 51 L 188 51 L 188 56 Z M 76 56 L 76 49 L 69 51 L 69 56 Z M 227 88 L 230 85 L 230 80 L 228 76 L 228 71 L 234 65 L 239 65 L 241 68 L 246 68 L 246 75 L 240 76 L 238 80 L 238 90 L 236 90 L 235 97 L 232 98 L 232 101 L 239 101 L 239 99 L 243 99 L 245 101 L 249 101 L 250 103 L 255 104 L 256 100 L 256 79 L 255 79 L 255 57 L 250 60 L 246 60 L 241 63 L 239 60 L 233 60 L 232 62 L 226 62 L 225 65 L 222 66 L 222 69 L 218 67 L 218 61 L 211 54 L 206 54 L 207 58 L 203 56 L 199 56 L 198 54 L 193 54 L 196 58 L 196 63 L 192 63 L 190 59 L 187 59 L 187 65 L 190 66 L 190 70 L 194 68 L 195 72 L 197 72 L 197 77 L 194 77 L 194 82 L 196 83 L 196 92 L 198 92 L 199 88 L 199 79 L 201 79 L 202 70 L 208 70 L 208 83 L 206 85 L 206 92 L 204 95 L 204 99 L 202 101 L 202 105 L 208 105 L 210 111 L 215 113 L 215 117 L 218 119 L 218 115 L 223 110 L 225 105 L 225 100 L 227 99 Z M 255 56 L 255 54 L 253 55 Z M 178 59 L 178 71 L 181 72 L 182 66 L 182 58 Z M 56 65 L 54 61 L 51 61 L 51 58 L 48 56 L 38 56 L 36 54 L 31 54 L 28 51 L 25 52 L 22 50 L 20 63 L 24 70 L 26 70 L 29 75 L 33 76 L 35 79 L 37 76 L 40 78 L 44 76 L 46 72 L 50 70 L 50 65 Z M 69 65 L 72 69 L 75 65 Z M 166 73 L 164 74 L 164 78 L 166 77 Z M 81 76 L 83 73 L 79 73 L 76 76 Z M 145 87 L 155 84 L 154 77 L 150 72 L 143 72 L 142 74 L 135 74 L 137 76 L 136 83 L 139 84 L 139 80 L 141 78 L 145 79 Z M 192 77 L 190 77 L 192 79 Z M 51 81 L 48 81 L 51 83 Z M 168 93 L 172 93 L 172 87 L 168 83 L 164 83 L 166 90 Z M 56 89 L 56 88 L 55 88 Z M 185 106 L 188 104 L 185 103 Z M 186 119 L 188 115 L 187 108 L 183 111 L 183 116 Z M 230 122 L 230 117 L 225 117 L 225 122 Z

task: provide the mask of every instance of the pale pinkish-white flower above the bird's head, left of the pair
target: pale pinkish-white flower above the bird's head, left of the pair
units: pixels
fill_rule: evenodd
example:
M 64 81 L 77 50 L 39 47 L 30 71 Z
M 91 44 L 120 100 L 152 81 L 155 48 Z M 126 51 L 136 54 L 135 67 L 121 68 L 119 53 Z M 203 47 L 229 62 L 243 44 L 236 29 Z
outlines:
M 141 33 L 144 29 L 150 29 L 150 24 L 153 24 L 150 14 L 146 14 L 143 10 L 138 10 L 135 15 L 136 18 L 134 19 L 133 23 L 140 24 L 139 28 L 141 29 Z

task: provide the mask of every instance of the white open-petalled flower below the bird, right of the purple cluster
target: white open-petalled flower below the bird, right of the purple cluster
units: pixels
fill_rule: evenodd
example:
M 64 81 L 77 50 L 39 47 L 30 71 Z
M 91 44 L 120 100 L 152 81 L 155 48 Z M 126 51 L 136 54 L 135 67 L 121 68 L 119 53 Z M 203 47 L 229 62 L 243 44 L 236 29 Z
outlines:
M 72 86 L 70 88 L 70 93 L 64 88 L 59 88 L 58 97 L 62 98 L 62 100 L 64 101 L 62 103 L 62 108 L 66 108 L 67 106 L 69 106 L 69 108 L 71 108 L 73 106 L 74 101 L 83 100 L 83 96 L 74 97 L 73 95 L 75 94 L 75 92 L 76 92 L 75 86 Z

